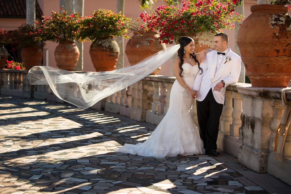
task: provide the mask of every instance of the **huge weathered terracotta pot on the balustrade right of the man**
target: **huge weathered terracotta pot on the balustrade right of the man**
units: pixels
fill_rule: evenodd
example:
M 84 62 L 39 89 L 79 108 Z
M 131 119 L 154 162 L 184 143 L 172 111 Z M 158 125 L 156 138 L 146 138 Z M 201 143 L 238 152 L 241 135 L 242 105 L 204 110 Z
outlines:
M 285 15 L 288 8 L 254 5 L 251 12 L 237 33 L 246 75 L 252 86 L 287 87 L 291 77 L 291 18 Z

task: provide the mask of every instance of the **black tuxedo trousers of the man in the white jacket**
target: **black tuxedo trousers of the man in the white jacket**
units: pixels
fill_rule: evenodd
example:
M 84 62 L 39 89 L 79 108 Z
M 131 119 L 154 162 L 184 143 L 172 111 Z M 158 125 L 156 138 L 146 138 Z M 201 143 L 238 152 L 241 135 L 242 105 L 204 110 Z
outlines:
M 216 150 L 219 120 L 222 113 L 223 104 L 216 102 L 212 89 L 210 89 L 203 101 L 196 101 L 196 107 L 199 133 L 200 138 L 204 143 L 205 152 Z

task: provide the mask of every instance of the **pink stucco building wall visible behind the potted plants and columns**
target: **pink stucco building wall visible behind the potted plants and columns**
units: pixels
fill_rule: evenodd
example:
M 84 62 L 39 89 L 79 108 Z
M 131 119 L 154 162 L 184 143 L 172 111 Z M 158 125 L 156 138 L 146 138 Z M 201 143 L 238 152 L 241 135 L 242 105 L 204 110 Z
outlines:
M 50 16 L 52 14 L 52 10 L 58 11 L 59 10 L 59 0 L 38 0 L 38 3 L 43 11 L 43 14 L 45 16 Z M 158 6 L 164 5 L 165 2 L 162 0 L 157 0 L 154 4 L 153 10 L 155 10 Z M 256 0 L 248 0 L 244 1 L 244 15 L 247 17 L 251 14 L 250 12 L 250 6 L 257 4 Z M 139 0 L 126 0 L 125 1 L 125 11 L 124 15 L 126 17 L 138 17 L 140 13 L 142 13 L 142 10 L 140 10 L 140 1 Z M 109 9 L 116 12 L 116 0 L 106 0 L 106 1 L 100 1 L 100 0 L 85 0 L 84 1 L 84 16 L 91 15 L 93 10 L 98 9 Z M 5 30 L 14 30 L 18 26 L 20 26 L 22 23 L 25 23 L 25 19 L 0 19 L 0 28 L 4 28 Z M 234 50 L 235 42 L 235 31 L 234 30 L 223 30 L 224 33 L 226 33 L 229 36 L 229 47 Z M 124 48 L 127 44 L 127 41 L 129 39 L 124 40 Z M 92 71 L 95 72 L 95 69 L 93 67 L 93 64 L 91 62 L 91 58 L 89 55 L 89 47 L 91 45 L 91 42 L 84 42 L 84 71 Z M 57 43 L 54 42 L 47 42 L 47 45 L 44 48 L 44 65 L 46 65 L 46 58 L 48 57 L 49 66 L 56 67 L 56 62 L 54 60 L 54 49 L 56 48 Z M 169 45 L 167 45 L 169 46 Z M 45 50 L 48 49 L 48 56 L 45 54 Z M 129 66 L 129 62 L 127 59 L 126 54 L 124 54 L 124 66 Z M 166 62 L 164 65 L 162 65 L 162 70 L 159 71 L 159 75 L 165 75 L 170 76 L 170 62 Z

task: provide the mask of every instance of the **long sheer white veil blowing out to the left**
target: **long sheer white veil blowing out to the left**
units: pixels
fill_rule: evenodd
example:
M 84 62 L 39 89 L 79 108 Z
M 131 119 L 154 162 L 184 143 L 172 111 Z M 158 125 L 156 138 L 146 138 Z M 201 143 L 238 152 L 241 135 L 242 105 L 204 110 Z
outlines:
M 31 85 L 49 85 L 58 98 L 86 109 L 148 76 L 177 54 L 179 47 L 180 44 L 170 46 L 136 65 L 106 72 L 75 73 L 35 66 L 29 70 L 28 79 Z

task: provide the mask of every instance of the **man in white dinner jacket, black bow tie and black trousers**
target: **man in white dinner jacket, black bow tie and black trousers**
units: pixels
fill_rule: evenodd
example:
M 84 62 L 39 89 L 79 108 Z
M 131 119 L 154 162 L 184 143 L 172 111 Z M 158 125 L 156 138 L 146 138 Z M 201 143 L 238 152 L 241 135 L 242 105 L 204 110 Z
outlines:
M 230 50 L 228 36 L 219 33 L 214 36 L 214 48 L 206 54 L 205 60 L 195 78 L 193 90 L 196 90 L 197 118 L 200 137 L 203 140 L 205 154 L 218 156 L 217 136 L 219 120 L 224 104 L 226 87 L 236 83 L 241 69 L 241 58 Z

